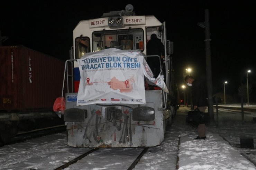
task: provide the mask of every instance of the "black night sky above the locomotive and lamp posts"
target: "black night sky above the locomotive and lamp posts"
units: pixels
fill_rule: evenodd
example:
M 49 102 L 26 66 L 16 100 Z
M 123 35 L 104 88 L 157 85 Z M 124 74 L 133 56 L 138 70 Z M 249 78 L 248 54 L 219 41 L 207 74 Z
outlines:
M 115 3 L 118 2 L 118 3 Z M 173 65 L 180 88 L 185 69 L 206 76 L 205 33 L 197 26 L 209 9 L 213 94 L 233 95 L 241 83 L 253 85 L 256 102 L 256 1 L 8 1 L 1 2 L 0 30 L 9 37 L 3 46 L 25 47 L 66 60 L 73 46 L 73 29 L 80 20 L 99 18 L 104 12 L 134 6 L 137 15 L 154 15 L 166 21 L 167 38 L 174 42 Z M 97 7 L 98 6 L 98 7 Z

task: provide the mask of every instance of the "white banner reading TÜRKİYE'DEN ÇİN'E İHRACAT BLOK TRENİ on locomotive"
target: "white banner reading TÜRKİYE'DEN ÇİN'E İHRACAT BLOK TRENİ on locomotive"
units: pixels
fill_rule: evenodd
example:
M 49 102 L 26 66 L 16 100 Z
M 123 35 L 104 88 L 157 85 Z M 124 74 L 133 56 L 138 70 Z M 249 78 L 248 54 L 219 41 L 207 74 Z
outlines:
M 166 88 L 163 76 L 159 74 L 157 79 L 153 78 L 140 51 L 110 48 L 87 53 L 77 62 L 81 76 L 78 106 L 94 103 L 145 104 L 144 74 L 156 86 L 160 82 L 162 87 L 159 87 Z

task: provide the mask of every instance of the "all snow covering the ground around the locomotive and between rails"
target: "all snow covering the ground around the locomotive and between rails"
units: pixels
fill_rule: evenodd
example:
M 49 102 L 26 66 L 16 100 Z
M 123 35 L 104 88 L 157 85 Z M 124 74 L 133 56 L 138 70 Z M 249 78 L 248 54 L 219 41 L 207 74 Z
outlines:
M 149 148 L 134 169 L 256 170 L 255 165 L 240 154 L 256 162 L 256 154 L 248 154 L 256 153 L 256 149 L 235 147 L 240 144 L 240 137 L 250 137 L 255 141 L 256 123 L 252 122 L 252 117 L 245 116 L 242 124 L 240 114 L 219 110 L 218 126 L 214 122 L 207 124 L 207 139 L 193 140 L 197 129 L 185 123 L 187 111 L 188 108 L 180 107 L 172 126 L 166 129 L 165 140 L 160 146 Z M 99 149 L 66 169 L 127 169 L 132 158 L 135 160 L 142 150 Z M 68 147 L 65 133 L 58 133 L 1 147 L 0 170 L 51 170 L 87 151 L 88 148 Z M 179 164 L 176 167 L 177 156 Z

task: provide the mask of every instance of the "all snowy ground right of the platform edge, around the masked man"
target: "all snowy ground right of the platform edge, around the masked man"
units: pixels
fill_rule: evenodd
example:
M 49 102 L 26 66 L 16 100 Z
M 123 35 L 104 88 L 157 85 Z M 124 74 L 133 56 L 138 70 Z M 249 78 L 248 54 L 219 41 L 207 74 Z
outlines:
M 252 122 L 252 117 L 245 116 L 244 124 L 238 113 L 219 111 L 218 117 L 218 127 L 216 123 L 207 124 L 206 140 L 193 140 L 197 129 L 191 133 L 192 127 L 180 134 L 179 170 L 255 170 L 255 165 L 240 153 L 255 153 L 256 150 L 231 147 L 227 142 L 238 146 L 240 137 L 256 139 L 256 124 Z M 216 114 L 214 118 L 216 120 Z M 256 162 L 255 154 L 250 155 L 250 159 Z

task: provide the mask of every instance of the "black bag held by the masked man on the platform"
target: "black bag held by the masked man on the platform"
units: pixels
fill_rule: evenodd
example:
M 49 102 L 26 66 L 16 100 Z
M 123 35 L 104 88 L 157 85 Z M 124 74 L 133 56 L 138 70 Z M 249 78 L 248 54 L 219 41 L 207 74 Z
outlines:
M 198 126 L 199 124 L 205 123 L 204 112 L 201 112 L 199 109 L 188 111 L 186 122 L 192 124 L 193 126 Z

